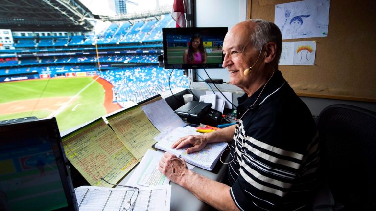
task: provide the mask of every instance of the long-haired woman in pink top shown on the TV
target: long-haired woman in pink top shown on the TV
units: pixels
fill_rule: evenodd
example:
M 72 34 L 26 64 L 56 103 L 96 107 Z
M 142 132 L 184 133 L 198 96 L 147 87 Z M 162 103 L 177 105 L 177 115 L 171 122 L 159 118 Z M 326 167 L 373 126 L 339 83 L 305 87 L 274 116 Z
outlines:
M 206 63 L 206 51 L 200 34 L 194 34 L 190 38 L 188 49 L 184 51 L 183 63 L 200 64 Z

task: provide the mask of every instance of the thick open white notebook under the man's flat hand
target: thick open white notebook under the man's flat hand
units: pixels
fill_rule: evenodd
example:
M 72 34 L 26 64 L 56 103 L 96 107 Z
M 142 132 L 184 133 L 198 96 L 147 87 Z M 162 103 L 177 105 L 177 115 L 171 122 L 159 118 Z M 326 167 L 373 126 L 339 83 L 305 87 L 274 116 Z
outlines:
M 200 135 L 201 133 L 196 132 L 196 128 L 186 126 L 186 127 L 177 127 L 168 133 L 164 138 L 155 144 L 155 148 L 170 152 L 178 157 L 184 158 L 186 162 L 198 166 L 200 168 L 211 171 L 215 164 L 218 162 L 218 159 L 222 155 L 223 150 L 226 148 L 227 143 L 212 143 L 205 146 L 198 152 L 193 152 L 187 154 L 186 148 L 173 149 L 171 145 L 175 143 L 179 138 L 187 135 Z

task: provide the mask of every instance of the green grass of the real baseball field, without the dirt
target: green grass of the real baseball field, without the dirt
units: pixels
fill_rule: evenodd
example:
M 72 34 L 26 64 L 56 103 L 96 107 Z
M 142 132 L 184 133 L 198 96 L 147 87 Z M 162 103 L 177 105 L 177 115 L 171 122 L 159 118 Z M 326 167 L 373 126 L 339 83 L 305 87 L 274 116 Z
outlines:
M 37 100 L 38 104 L 40 104 L 44 102 L 43 99 L 53 97 L 66 97 L 65 102 L 67 102 L 93 81 L 91 77 L 82 77 L 0 83 L 0 104 L 26 100 Z M 56 114 L 59 130 L 65 131 L 105 115 L 106 110 L 103 106 L 103 102 L 103 87 L 98 82 L 94 82 L 77 95 L 68 106 L 63 107 L 63 109 Z M 20 112 L 9 114 L 0 110 L 0 120 L 28 116 L 45 118 L 57 110 L 37 108 L 31 111 L 33 110 L 32 107 L 35 106 L 26 106 L 28 106 L 30 111 L 25 112 L 24 110 L 20 110 Z M 57 105 L 57 107 L 61 106 L 62 105 Z

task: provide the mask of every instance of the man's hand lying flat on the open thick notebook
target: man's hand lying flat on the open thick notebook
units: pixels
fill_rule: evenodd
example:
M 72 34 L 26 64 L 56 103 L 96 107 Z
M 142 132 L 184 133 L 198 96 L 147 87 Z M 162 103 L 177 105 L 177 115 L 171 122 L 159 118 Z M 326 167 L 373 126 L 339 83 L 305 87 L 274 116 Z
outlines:
M 187 154 L 200 151 L 205 145 L 208 143 L 207 139 L 205 139 L 204 135 L 188 135 L 183 138 L 180 138 L 176 141 L 171 148 L 180 149 L 186 145 L 193 145 L 193 147 L 187 148 Z

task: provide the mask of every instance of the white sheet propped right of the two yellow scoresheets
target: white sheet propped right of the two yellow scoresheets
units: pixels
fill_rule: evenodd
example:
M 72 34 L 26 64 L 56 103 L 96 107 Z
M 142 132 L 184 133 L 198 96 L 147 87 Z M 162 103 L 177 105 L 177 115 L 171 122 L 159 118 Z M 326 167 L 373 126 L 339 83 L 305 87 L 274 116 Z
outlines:
M 171 131 L 176 127 L 183 127 L 186 123 L 171 109 L 167 102 L 158 97 L 152 102 L 140 105 L 150 122 L 160 131 Z

